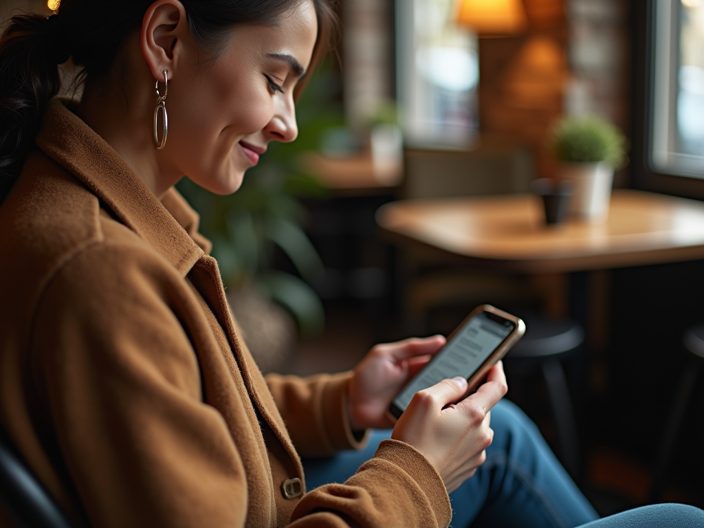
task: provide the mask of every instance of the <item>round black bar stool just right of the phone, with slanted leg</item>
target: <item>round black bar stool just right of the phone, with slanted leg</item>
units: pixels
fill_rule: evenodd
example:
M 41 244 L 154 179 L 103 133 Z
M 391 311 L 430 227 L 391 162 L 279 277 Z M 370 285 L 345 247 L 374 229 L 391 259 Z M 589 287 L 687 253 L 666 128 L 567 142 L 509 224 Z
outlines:
M 504 358 L 507 370 L 517 375 L 539 368 L 548 389 L 562 465 L 578 479 L 581 474 L 579 435 L 574 419 L 570 389 L 562 359 L 584 342 L 584 330 L 570 319 L 553 320 L 538 314 L 524 314 L 526 333 Z

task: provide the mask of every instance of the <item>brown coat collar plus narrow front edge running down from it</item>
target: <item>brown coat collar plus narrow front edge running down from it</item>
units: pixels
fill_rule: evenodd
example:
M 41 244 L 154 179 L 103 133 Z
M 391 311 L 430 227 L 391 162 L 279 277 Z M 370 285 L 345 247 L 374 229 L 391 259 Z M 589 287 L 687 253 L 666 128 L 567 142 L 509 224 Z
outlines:
M 210 241 L 197 232 L 198 215 L 175 189 L 170 189 L 159 201 L 118 153 L 70 111 L 71 104 L 69 99 L 61 98 L 49 102 L 37 145 L 91 189 L 120 222 L 144 239 L 184 278 L 189 275 L 227 334 L 253 405 L 302 475 L 300 459 L 268 386 L 235 328 L 218 263 L 206 255 Z

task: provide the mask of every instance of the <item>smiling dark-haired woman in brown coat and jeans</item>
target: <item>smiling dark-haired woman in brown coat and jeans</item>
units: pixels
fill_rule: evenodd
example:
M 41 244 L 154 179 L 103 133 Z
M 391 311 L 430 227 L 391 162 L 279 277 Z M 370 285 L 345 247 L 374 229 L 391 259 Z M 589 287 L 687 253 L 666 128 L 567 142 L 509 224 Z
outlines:
M 595 517 L 498 403 L 501 365 L 450 408 L 462 379 L 423 391 L 344 484 L 306 489 L 299 454 L 389 427 L 391 397 L 444 339 L 379 345 L 347 374 L 263 379 L 172 186 L 234 192 L 270 142 L 296 138 L 294 96 L 332 23 L 326 0 L 63 0 L 6 30 L 0 422 L 77 526 L 446 526 L 455 489 L 466 522 Z M 54 97 L 69 57 L 78 102 Z

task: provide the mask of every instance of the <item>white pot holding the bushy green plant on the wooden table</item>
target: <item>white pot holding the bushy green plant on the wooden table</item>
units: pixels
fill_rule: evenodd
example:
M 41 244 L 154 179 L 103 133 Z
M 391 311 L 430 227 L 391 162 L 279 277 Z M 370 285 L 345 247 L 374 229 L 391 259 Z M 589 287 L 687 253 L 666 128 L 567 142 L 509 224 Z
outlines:
M 560 180 L 570 180 L 574 187 L 570 216 L 577 220 L 603 222 L 608 217 L 614 169 L 604 161 L 598 163 L 562 163 Z

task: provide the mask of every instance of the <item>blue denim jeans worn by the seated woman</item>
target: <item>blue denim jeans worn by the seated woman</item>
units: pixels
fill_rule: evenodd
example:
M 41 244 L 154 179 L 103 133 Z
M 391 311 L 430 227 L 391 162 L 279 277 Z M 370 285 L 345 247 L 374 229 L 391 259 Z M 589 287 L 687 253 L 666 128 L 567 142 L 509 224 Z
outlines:
M 553 455 L 537 427 L 510 401 L 491 411 L 494 442 L 486 462 L 450 495 L 453 527 L 493 528 L 689 528 L 704 527 L 704 512 L 685 505 L 658 504 L 598 520 L 577 485 Z M 372 458 L 391 431 L 375 431 L 362 451 L 303 460 L 306 486 L 344 482 Z M 689 523 L 689 524 L 688 524 Z

